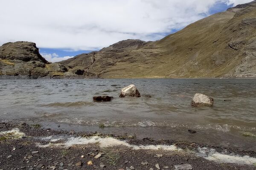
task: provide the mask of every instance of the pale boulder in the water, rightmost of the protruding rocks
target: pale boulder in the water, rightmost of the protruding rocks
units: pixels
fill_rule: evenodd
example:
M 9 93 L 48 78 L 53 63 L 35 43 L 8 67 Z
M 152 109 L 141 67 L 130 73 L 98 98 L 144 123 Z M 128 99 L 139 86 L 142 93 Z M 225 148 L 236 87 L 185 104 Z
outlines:
M 191 106 L 193 107 L 212 106 L 212 105 L 213 105 L 213 99 L 201 93 L 196 93 L 191 102 Z

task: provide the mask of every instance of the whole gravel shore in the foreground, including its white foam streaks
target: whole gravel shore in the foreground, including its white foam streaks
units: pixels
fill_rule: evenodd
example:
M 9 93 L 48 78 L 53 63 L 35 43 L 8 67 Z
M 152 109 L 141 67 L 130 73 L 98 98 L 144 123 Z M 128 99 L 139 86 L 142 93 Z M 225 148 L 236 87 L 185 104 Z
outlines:
M 70 132 L 41 128 L 40 125 L 26 123 L 0 123 L 0 133 L 6 130 L 23 134 L 12 139 L 5 136 L 0 140 L 0 170 L 26 169 L 135 169 L 174 170 L 175 165 L 189 164 L 193 170 L 255 170 L 255 151 L 237 150 L 207 144 L 187 143 L 172 140 L 137 139 L 135 136 L 124 136 L 101 133 Z M 8 133 L 4 133 L 8 134 Z M 198 152 L 198 148 L 215 150 L 232 162 L 219 162 L 209 157 L 210 153 Z M 88 154 L 90 153 L 90 154 Z M 95 155 L 102 153 L 99 158 Z M 156 155 L 157 154 L 157 155 Z M 207 156 L 206 156 L 207 155 Z M 83 158 L 81 157 L 83 156 Z M 211 160 L 212 159 L 212 160 Z M 229 160 L 229 161 L 230 161 Z M 244 164 L 236 161 L 244 160 Z M 248 160 L 252 162 L 248 163 Z M 81 161 L 81 166 L 76 166 Z M 88 165 L 93 161 L 93 165 Z M 145 163 L 147 162 L 147 163 Z M 247 162 L 247 163 L 246 163 Z M 256 163 L 256 162 L 255 162 Z M 77 164 L 78 165 L 78 164 Z M 104 166 L 103 166 L 104 165 Z M 43 168 L 42 168 L 43 167 Z

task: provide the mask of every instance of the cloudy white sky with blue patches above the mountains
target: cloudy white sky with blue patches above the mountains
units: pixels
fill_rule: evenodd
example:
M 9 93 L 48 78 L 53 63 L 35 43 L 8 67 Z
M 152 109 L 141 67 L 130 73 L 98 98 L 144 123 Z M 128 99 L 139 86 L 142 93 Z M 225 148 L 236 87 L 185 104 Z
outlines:
M 127 39 L 160 40 L 252 0 L 0 0 L 0 45 L 35 42 L 50 62 Z

